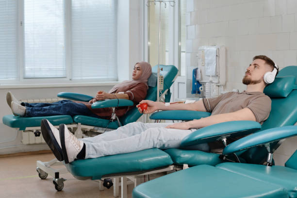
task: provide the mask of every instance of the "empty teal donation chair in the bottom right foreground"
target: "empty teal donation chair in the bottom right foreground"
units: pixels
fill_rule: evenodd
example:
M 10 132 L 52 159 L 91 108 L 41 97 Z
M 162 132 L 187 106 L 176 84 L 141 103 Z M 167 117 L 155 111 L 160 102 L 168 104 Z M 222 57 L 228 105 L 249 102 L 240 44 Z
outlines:
M 197 165 L 134 188 L 133 198 L 296 198 L 297 150 L 285 166 L 272 165 L 273 142 L 297 135 L 297 126 L 267 129 L 241 138 L 224 155 L 262 146 L 267 165 L 222 163 Z

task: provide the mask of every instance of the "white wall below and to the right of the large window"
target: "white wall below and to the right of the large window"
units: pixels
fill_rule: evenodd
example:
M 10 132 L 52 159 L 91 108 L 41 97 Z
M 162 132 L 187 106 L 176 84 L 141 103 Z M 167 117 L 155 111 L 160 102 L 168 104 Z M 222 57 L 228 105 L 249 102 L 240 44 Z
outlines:
M 118 76 L 119 81 L 129 80 L 132 75 L 132 65 L 144 60 L 143 57 L 143 18 L 142 2 L 139 0 L 119 0 L 121 4 L 120 20 L 118 21 Z M 88 84 L 88 85 L 86 85 Z M 12 91 L 17 99 L 49 99 L 56 98 L 59 92 L 75 92 L 86 95 L 94 95 L 98 90 L 108 91 L 113 83 L 86 83 L 81 85 L 59 84 L 55 86 L 3 86 L 0 85 L 0 117 L 12 114 L 6 103 L 6 93 Z M 23 88 L 26 87 L 26 88 Z M 18 134 L 19 135 L 19 134 Z M 17 136 L 16 130 L 11 129 L 0 120 L 0 154 L 26 152 L 48 149 L 46 144 L 23 145 Z

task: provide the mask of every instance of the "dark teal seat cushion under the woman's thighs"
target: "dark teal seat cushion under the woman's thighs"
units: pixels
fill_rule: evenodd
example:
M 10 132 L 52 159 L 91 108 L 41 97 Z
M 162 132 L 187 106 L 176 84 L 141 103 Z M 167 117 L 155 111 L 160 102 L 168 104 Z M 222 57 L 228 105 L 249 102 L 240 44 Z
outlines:
M 75 115 L 73 117 L 73 121 L 76 123 L 81 123 L 83 125 L 94 126 L 94 127 L 102 127 L 108 129 L 117 129 L 118 123 L 117 121 L 110 122 L 108 119 L 101 119 L 97 117 L 90 117 L 85 115 Z

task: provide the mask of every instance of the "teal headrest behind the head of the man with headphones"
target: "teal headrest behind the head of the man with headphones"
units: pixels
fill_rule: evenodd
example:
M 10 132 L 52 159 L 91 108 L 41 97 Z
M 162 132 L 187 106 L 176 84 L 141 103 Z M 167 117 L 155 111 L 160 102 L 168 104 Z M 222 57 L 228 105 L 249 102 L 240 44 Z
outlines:
M 295 76 L 276 77 L 274 82 L 264 88 L 264 94 L 270 98 L 286 98 L 296 89 Z

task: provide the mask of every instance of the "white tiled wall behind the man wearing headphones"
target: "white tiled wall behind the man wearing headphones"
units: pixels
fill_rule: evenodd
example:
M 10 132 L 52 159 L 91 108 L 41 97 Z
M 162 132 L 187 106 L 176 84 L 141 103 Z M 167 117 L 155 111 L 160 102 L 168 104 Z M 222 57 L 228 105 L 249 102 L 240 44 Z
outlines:
M 241 80 L 255 55 L 280 68 L 297 65 L 297 0 L 187 0 L 187 96 L 198 47 L 205 45 L 226 46 L 227 91 L 246 89 Z M 297 138 L 287 140 L 275 153 L 277 164 L 296 145 Z

